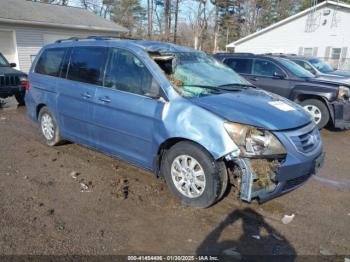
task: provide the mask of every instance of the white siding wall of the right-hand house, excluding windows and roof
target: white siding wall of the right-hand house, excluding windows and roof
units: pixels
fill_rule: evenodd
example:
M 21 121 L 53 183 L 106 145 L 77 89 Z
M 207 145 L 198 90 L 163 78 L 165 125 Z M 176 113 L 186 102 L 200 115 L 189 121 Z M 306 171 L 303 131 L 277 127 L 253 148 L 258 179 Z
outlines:
M 324 15 L 326 9 L 331 11 L 329 15 Z M 335 11 L 337 26 L 334 26 L 334 24 L 332 26 Z M 304 48 L 312 48 L 312 55 L 327 60 L 334 67 L 350 70 L 350 30 L 348 29 L 350 10 L 346 8 L 336 9 L 333 5 L 327 5 L 320 8 L 316 16 L 319 19 L 317 19 L 312 32 L 306 32 L 308 16 L 304 15 L 242 43 L 237 43 L 235 51 L 258 54 L 300 54 Z M 340 60 L 331 58 L 332 48 L 343 50 Z

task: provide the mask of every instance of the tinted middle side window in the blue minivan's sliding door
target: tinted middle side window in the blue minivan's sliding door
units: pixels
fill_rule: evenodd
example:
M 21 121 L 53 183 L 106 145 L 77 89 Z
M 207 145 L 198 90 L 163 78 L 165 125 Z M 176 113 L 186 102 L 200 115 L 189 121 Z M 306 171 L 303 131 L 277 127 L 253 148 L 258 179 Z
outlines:
M 67 79 L 102 85 L 107 48 L 75 47 L 72 51 Z

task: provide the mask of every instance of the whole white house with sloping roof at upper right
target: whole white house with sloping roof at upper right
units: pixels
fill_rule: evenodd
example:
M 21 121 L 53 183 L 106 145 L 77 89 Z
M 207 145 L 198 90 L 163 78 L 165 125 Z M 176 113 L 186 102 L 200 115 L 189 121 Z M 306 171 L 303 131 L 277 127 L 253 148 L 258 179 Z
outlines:
M 235 52 L 317 56 L 350 70 L 350 5 L 325 1 L 229 45 Z

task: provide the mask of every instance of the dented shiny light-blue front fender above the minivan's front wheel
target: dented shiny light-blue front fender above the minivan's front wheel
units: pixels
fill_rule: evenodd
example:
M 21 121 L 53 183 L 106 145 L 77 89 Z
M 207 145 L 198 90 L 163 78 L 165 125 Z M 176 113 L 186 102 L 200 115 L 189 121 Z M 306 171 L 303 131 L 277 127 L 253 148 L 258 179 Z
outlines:
M 157 150 L 168 139 L 182 138 L 203 146 L 214 159 L 239 148 L 224 128 L 224 119 L 182 97 L 164 104 L 162 127 L 155 134 Z

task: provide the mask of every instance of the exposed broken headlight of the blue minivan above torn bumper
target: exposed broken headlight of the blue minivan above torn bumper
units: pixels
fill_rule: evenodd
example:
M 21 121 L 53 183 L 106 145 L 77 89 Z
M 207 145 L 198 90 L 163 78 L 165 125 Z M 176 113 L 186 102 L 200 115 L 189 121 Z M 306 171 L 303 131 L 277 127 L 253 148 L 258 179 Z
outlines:
M 225 122 L 224 126 L 232 140 L 240 148 L 241 155 L 243 156 L 253 157 L 286 154 L 286 150 L 281 142 L 267 130 L 230 122 Z

